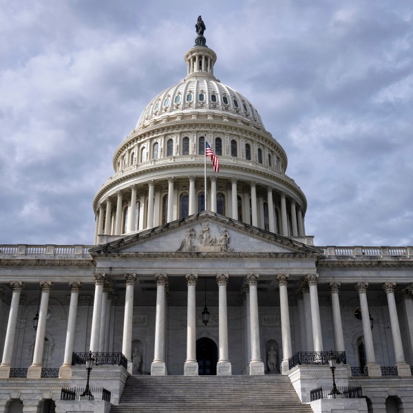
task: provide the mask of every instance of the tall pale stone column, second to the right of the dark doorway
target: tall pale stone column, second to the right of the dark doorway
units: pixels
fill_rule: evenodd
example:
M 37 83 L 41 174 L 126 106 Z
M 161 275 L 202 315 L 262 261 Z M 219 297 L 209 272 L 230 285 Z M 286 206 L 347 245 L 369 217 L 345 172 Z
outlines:
M 258 376 L 264 374 L 264 363 L 260 351 L 260 323 L 258 320 L 258 297 L 257 284 L 258 274 L 248 274 L 246 281 L 250 291 L 250 317 L 251 317 L 251 361 L 250 375 Z

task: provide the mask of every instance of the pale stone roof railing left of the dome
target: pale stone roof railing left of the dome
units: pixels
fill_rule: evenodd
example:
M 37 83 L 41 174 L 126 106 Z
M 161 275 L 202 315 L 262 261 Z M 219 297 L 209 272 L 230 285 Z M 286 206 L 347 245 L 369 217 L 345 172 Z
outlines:
M 3 245 L 0 244 L 0 255 L 87 255 L 93 245 Z

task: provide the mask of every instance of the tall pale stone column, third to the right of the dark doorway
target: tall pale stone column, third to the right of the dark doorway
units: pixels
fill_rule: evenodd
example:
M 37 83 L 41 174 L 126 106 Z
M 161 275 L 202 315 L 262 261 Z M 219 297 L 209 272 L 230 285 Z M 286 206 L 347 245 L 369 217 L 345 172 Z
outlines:
M 293 355 L 291 350 L 290 310 L 288 308 L 288 274 L 277 275 L 279 285 L 279 308 L 281 311 L 282 332 L 282 374 L 290 370 L 288 359 Z

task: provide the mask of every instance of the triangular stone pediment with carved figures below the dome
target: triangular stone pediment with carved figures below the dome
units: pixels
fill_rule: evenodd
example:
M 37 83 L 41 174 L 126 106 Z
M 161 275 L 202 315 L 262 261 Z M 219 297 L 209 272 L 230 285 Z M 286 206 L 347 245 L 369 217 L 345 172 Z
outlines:
M 191 215 L 96 246 L 94 254 L 110 253 L 304 253 L 320 254 L 308 246 L 210 211 Z

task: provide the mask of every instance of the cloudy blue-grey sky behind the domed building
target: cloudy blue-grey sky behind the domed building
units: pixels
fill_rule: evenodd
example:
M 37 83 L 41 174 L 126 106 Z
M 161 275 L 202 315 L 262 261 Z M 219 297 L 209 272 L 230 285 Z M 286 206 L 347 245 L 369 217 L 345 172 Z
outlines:
M 0 0 L 0 243 L 93 242 L 114 150 L 186 75 L 199 14 L 315 244 L 413 245 L 411 0 Z

